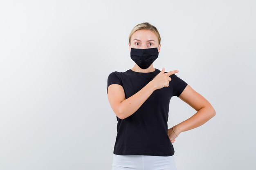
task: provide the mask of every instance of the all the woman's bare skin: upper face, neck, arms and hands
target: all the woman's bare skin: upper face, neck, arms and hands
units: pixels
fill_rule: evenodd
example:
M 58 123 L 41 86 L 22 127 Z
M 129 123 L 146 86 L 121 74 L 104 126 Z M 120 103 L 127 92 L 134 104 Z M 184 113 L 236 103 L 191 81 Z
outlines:
M 136 40 L 135 40 L 136 39 Z M 151 41 L 148 41 L 151 40 Z M 152 41 L 153 40 L 153 41 Z M 129 49 L 147 49 L 158 47 L 158 52 L 160 52 L 161 44 L 159 44 L 157 36 L 150 30 L 138 30 L 133 33 L 131 37 L 131 44 L 128 43 Z M 155 71 L 153 64 L 151 64 L 146 69 L 141 69 L 137 64 L 132 68 L 132 71 L 137 71 L 141 73 L 148 73 Z M 178 70 L 169 71 L 164 73 L 165 69 L 163 67 L 162 71 L 154 77 L 144 88 L 135 93 L 129 98 L 125 98 L 124 88 L 119 84 L 111 84 L 108 86 L 108 101 L 110 106 L 114 111 L 115 115 L 120 119 L 125 119 L 129 117 L 148 99 L 148 97 L 153 93 L 153 91 L 169 86 L 171 81 L 170 75 L 178 73 Z M 206 123 L 209 119 L 216 115 L 216 111 L 213 106 L 205 99 L 202 95 L 196 92 L 189 84 L 186 86 L 184 91 L 180 94 L 179 98 L 189 104 L 192 108 L 196 110 L 196 113 L 189 119 L 186 119 L 179 124 L 168 129 L 168 137 L 171 143 L 174 143 L 175 138 L 180 135 L 181 132 L 197 128 L 202 124 Z M 174 132 L 175 133 L 174 133 Z M 177 136 L 176 136 L 176 135 Z

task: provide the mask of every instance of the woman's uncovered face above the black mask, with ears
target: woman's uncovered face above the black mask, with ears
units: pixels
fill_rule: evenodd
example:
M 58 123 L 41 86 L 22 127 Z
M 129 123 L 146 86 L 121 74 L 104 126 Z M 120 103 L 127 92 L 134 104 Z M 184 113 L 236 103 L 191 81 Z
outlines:
M 135 33 L 132 34 L 131 37 L 131 44 L 129 44 L 129 49 L 131 51 L 131 48 L 134 49 L 150 49 L 158 47 L 158 53 L 160 52 L 161 44 L 158 44 L 158 39 L 155 33 L 153 33 L 150 30 L 141 29 L 138 31 L 135 31 Z

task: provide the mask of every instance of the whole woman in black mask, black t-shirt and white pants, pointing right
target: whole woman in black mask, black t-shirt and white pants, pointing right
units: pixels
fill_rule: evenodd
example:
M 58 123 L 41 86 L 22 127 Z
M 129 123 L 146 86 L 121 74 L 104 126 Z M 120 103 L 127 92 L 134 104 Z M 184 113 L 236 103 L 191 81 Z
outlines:
M 108 76 L 107 94 L 117 116 L 112 170 L 176 170 L 173 144 L 181 132 L 201 126 L 214 108 L 175 73 L 153 67 L 161 48 L 157 28 L 137 24 L 129 36 L 133 68 Z M 197 113 L 168 129 L 170 99 L 177 96 Z

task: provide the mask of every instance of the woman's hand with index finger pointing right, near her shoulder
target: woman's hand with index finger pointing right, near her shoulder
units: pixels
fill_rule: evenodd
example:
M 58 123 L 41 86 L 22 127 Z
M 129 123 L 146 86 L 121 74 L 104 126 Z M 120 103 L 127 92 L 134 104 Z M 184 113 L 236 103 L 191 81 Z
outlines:
M 169 82 L 171 81 L 171 77 L 169 77 L 170 75 L 179 72 L 178 70 L 174 70 L 174 71 L 169 71 L 167 73 L 164 73 L 164 67 L 162 69 L 162 71 L 160 73 L 158 73 L 153 80 L 151 80 L 151 84 L 153 84 L 153 86 L 155 87 L 155 89 L 159 89 L 159 88 L 163 88 L 163 87 L 168 87 L 169 86 Z

